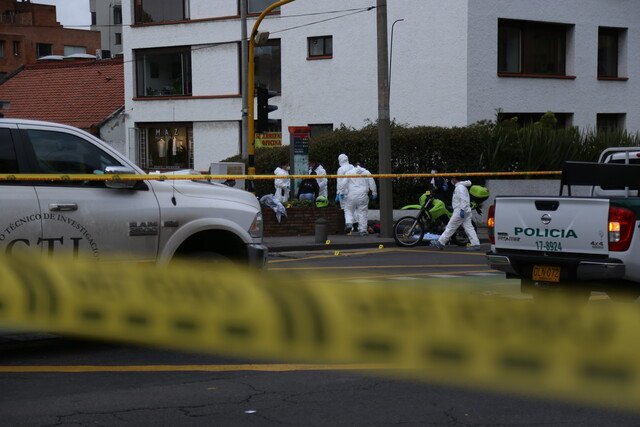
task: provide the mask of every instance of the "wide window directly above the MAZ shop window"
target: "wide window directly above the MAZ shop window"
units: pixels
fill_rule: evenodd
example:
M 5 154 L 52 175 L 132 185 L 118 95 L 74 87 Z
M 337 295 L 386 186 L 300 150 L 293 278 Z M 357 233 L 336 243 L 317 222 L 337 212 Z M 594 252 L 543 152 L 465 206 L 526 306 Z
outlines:
M 135 51 L 137 95 L 191 95 L 189 47 Z

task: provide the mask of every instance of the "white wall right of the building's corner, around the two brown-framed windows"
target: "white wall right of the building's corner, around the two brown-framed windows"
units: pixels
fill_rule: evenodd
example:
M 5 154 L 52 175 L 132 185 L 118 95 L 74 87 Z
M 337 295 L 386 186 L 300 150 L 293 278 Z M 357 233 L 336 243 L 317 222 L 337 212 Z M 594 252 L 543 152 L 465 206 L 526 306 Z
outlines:
M 597 113 L 627 113 L 628 129 L 640 128 L 637 76 L 640 57 L 627 55 L 628 82 L 599 81 L 598 26 L 629 28 L 630 52 L 638 49 L 640 8 L 633 0 L 469 0 L 468 121 L 505 112 L 567 112 L 573 124 L 594 127 Z M 575 80 L 497 76 L 498 18 L 575 25 L 568 45 L 567 74 Z M 571 46 L 573 44 L 573 46 Z M 623 67 L 625 68 L 625 67 Z

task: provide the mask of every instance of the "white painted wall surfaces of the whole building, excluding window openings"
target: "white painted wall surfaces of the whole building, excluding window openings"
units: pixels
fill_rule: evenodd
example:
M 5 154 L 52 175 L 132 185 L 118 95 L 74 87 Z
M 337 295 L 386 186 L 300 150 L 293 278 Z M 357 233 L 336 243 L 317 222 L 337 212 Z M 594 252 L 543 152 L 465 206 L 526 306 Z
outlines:
M 261 30 L 282 41 L 282 96 L 270 100 L 279 106 L 270 117 L 282 119 L 285 143 L 288 126 L 344 123 L 358 128 L 376 120 L 375 8 L 322 23 L 316 21 L 349 12 L 310 15 L 374 5 L 373 0 L 296 1 L 263 22 Z M 128 128 L 139 122 L 210 122 L 207 132 L 194 131 L 196 163 L 237 152 L 239 134 L 219 125 L 241 120 L 237 8 L 237 0 L 191 0 L 191 19 L 201 21 L 124 26 Z M 131 22 L 131 11 L 132 0 L 124 0 L 125 23 Z M 459 126 L 493 119 L 497 108 L 552 110 L 573 113 L 573 124 L 593 127 L 597 113 L 627 113 L 627 128 L 640 129 L 640 57 L 633 55 L 640 40 L 639 12 L 633 0 L 391 1 L 389 36 L 392 23 L 404 19 L 394 32 L 391 117 L 410 125 Z M 497 77 L 498 18 L 574 24 L 568 69 L 577 78 Z M 249 29 L 254 20 L 249 20 Z M 628 61 L 623 64 L 628 82 L 597 80 L 598 26 L 629 28 Z M 307 38 L 321 35 L 333 36 L 333 58 L 307 60 Z M 207 45 L 211 43 L 220 44 Z M 132 50 L 164 46 L 192 46 L 194 99 L 133 101 Z M 222 132 L 220 138 L 209 137 L 215 131 Z M 199 135 L 207 137 L 201 140 Z M 215 153 L 225 155 L 211 158 Z M 206 160 L 200 160 L 200 154 L 206 154 Z

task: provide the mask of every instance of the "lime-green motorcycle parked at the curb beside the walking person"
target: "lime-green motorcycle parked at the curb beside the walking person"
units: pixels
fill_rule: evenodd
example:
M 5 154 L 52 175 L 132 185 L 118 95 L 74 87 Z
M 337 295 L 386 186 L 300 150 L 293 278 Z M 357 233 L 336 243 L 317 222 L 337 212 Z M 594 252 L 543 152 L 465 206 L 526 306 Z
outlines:
M 481 214 L 482 202 L 489 198 L 489 191 L 485 187 L 473 185 L 469 189 L 469 195 L 471 209 Z M 393 226 L 393 238 L 396 245 L 404 247 L 418 245 L 427 233 L 442 234 L 452 215 L 445 203 L 432 195 L 431 191 L 420 196 L 420 205 L 404 206 L 402 209 L 418 209 L 417 216 L 404 216 Z M 472 221 L 472 224 L 473 228 L 477 230 L 475 221 Z M 469 237 L 462 226 L 458 227 L 451 236 L 451 243 L 458 246 L 469 244 Z

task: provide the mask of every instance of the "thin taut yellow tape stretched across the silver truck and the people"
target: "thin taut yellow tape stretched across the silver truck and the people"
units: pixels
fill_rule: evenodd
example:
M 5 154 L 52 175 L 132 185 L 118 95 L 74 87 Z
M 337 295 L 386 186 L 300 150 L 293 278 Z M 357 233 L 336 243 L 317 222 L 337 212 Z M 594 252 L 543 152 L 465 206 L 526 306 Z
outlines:
M 371 175 L 323 175 L 322 178 L 434 178 L 434 177 L 517 177 L 517 176 L 554 176 L 562 175 L 562 171 L 534 171 L 534 172 L 460 172 L 460 173 L 405 173 L 405 174 L 371 174 Z M 226 180 L 274 180 L 281 177 L 275 175 L 164 175 L 164 174 L 0 174 L 0 181 L 226 181 Z M 290 179 L 318 178 L 318 175 L 289 175 Z

